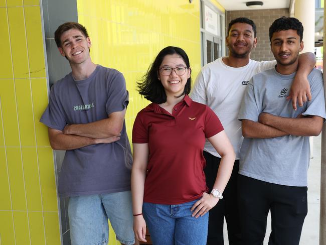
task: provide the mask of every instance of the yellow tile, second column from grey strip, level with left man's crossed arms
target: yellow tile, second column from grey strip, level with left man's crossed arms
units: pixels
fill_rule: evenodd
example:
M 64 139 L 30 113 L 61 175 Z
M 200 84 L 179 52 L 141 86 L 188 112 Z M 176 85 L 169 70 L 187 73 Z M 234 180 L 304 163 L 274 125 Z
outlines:
M 30 80 L 17 79 L 15 89 L 21 145 L 36 146 Z

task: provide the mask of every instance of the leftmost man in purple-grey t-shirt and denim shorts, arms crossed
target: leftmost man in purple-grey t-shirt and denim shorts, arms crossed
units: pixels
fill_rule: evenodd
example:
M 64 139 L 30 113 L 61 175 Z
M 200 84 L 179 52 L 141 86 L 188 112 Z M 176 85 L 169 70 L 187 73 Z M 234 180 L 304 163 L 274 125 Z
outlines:
M 55 41 L 72 72 L 56 82 L 41 122 L 54 150 L 66 150 L 59 196 L 69 196 L 71 244 L 107 244 L 108 218 L 122 244 L 134 244 L 123 75 L 91 61 L 85 27 L 68 22 Z

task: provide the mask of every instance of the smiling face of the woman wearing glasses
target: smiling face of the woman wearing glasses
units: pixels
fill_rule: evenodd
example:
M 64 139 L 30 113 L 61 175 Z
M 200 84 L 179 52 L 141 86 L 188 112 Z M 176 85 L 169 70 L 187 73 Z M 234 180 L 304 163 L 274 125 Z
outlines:
M 161 81 L 164 90 L 169 96 L 180 96 L 185 90 L 185 85 L 188 78 L 190 78 L 190 68 L 186 69 L 185 74 L 177 75 L 176 70 L 172 70 L 171 74 L 164 76 L 161 72 L 161 68 L 178 68 L 178 67 L 187 67 L 185 61 L 179 54 L 166 55 L 162 60 L 161 65 L 158 70 L 158 79 Z

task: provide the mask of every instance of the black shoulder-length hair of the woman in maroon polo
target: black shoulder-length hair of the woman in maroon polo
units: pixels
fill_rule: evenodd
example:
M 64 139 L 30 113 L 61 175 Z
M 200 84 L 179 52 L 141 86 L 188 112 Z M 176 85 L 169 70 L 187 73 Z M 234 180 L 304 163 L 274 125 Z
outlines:
M 140 82 L 137 82 L 138 92 L 153 103 L 161 104 L 167 101 L 167 94 L 160 80 L 158 80 L 159 67 L 167 55 L 178 54 L 190 68 L 189 58 L 186 52 L 178 47 L 168 46 L 162 49 L 149 66 L 146 74 Z M 191 70 L 190 70 L 191 71 Z M 191 89 L 191 76 L 188 78 L 183 94 L 189 94 Z M 181 96 L 180 95 L 180 96 Z

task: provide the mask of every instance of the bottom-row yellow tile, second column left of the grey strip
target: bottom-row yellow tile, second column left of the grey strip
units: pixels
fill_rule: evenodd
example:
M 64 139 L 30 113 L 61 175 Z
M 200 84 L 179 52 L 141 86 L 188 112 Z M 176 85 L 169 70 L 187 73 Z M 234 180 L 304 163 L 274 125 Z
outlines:
M 31 244 L 46 244 L 42 212 L 29 212 L 28 217 L 30 220 Z

